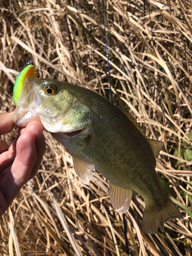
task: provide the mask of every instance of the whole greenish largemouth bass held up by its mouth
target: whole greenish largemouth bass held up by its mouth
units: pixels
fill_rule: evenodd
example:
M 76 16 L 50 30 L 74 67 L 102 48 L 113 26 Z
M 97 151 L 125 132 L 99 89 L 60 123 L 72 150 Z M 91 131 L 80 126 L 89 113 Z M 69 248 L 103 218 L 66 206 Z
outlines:
M 73 156 L 76 174 L 88 185 L 97 170 L 109 180 L 110 201 L 123 214 L 136 191 L 145 202 L 141 229 L 163 231 L 166 221 L 182 218 L 156 174 L 162 141 L 145 137 L 136 119 L 98 93 L 54 79 L 27 77 L 13 123 L 38 120 Z

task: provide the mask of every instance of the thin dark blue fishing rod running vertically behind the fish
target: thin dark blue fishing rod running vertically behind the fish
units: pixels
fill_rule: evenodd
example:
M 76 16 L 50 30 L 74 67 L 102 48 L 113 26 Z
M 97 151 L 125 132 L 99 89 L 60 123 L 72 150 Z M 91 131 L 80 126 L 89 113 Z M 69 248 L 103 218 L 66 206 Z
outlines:
M 103 0 L 102 1 L 102 13 L 103 13 L 103 24 L 104 24 L 104 38 L 105 38 L 105 47 L 106 47 L 106 58 L 108 62 L 108 73 L 109 73 L 109 83 L 110 83 L 110 97 L 111 97 L 111 102 L 113 103 L 113 98 L 112 98 L 112 90 L 111 90 L 111 76 L 110 76 L 110 65 L 109 65 L 109 54 L 108 54 L 108 38 L 106 37 L 106 29 L 105 29 L 105 20 L 104 20 L 104 4 Z M 127 242 L 127 236 L 126 236 L 126 220 L 125 220 L 125 214 L 123 214 L 123 225 L 124 225 L 124 237 L 125 237 L 125 247 L 126 247 L 126 256 L 130 255 L 130 250 Z

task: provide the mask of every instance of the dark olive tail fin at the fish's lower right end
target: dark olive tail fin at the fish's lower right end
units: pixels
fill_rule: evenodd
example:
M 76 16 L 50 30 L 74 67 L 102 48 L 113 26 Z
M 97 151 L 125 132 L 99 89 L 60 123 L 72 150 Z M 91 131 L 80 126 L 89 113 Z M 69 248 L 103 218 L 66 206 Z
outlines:
M 164 223 L 170 219 L 176 218 L 182 218 L 182 214 L 172 200 L 166 196 L 166 201 L 161 209 L 154 208 L 154 205 L 145 206 L 141 227 L 143 232 L 155 234 L 157 227 L 163 231 Z

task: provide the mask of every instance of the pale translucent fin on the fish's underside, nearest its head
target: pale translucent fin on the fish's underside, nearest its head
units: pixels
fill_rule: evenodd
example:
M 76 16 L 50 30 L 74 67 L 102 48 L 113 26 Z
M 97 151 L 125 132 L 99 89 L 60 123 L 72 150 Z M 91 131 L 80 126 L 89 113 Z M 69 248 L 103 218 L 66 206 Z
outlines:
M 83 184 L 88 185 L 95 170 L 93 164 L 89 164 L 77 156 L 73 156 L 73 164 L 76 174 Z

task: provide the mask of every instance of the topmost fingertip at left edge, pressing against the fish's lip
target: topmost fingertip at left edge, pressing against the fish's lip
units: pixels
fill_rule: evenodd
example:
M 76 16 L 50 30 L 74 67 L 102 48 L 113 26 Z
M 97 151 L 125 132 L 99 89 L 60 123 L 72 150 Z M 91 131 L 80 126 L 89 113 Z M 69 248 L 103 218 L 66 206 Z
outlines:
M 0 113 L 0 135 L 10 133 L 13 130 L 13 115 L 11 113 Z

